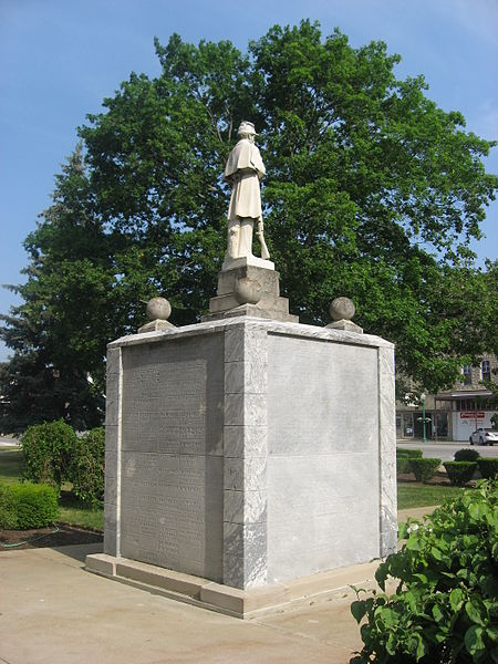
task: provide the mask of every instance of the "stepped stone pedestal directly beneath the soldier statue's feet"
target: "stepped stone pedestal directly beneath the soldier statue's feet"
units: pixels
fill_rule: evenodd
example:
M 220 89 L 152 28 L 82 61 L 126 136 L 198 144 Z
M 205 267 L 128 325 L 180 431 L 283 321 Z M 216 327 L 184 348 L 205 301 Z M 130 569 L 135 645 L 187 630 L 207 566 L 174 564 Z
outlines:
M 289 300 L 280 297 L 279 273 L 269 260 L 256 256 L 225 260 L 217 292 L 203 322 L 237 315 L 299 322 L 299 317 L 289 313 Z

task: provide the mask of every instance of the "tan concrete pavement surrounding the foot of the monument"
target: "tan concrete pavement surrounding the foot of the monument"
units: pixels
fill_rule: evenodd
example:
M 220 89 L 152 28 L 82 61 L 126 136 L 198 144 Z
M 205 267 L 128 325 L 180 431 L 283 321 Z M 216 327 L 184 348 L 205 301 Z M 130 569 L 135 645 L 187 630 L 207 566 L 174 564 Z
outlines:
M 347 587 L 357 583 L 354 568 L 332 600 L 242 621 L 86 572 L 85 556 L 101 550 L 0 553 L 1 664 L 345 664 L 361 650 Z

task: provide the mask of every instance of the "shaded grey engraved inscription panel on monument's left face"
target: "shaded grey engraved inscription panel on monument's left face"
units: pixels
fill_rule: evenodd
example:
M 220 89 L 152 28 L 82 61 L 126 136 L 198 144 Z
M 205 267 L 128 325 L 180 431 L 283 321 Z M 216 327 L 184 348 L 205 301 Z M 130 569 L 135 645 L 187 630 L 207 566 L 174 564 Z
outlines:
M 222 578 L 222 335 L 123 349 L 121 552 Z

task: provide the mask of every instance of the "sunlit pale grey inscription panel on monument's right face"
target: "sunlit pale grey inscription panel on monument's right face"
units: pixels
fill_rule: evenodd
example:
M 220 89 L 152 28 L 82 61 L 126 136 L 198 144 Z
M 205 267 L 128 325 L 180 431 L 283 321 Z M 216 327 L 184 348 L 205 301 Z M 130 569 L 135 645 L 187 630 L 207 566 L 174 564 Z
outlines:
M 268 579 L 378 556 L 377 350 L 270 335 L 268 361 Z

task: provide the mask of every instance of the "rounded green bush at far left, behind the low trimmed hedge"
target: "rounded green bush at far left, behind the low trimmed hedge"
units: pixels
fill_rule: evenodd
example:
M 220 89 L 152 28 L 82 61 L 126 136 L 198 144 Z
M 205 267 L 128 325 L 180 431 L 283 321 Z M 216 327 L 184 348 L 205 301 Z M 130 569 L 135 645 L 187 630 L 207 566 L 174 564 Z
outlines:
M 63 419 L 28 427 L 21 438 L 24 479 L 58 486 L 66 481 L 76 443 L 76 434 Z

